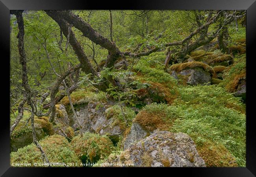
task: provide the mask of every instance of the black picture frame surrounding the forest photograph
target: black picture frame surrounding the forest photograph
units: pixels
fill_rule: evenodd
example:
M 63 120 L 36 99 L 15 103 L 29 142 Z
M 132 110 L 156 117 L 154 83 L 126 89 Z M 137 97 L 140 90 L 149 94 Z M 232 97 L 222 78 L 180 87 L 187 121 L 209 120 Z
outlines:
M 125 175 L 122 171 L 137 171 L 152 173 L 155 170 L 163 170 L 167 175 L 173 175 L 173 172 L 179 175 L 187 174 L 189 176 L 255 176 L 256 175 L 256 138 L 255 138 L 255 124 L 253 124 L 255 102 L 255 91 L 253 90 L 253 61 L 255 58 L 254 43 L 256 42 L 256 1 L 255 0 L 129 0 L 120 2 L 95 2 L 88 0 L 0 0 L 0 49 L 1 52 L 1 70 L 7 69 L 9 65 L 9 20 L 10 10 L 14 9 L 180 9 L 180 10 L 247 10 L 247 159 L 245 168 L 111 168 L 112 175 Z M 6 68 L 5 68 L 6 67 Z M 8 70 L 8 69 L 7 69 Z M 7 101 L 9 100 L 9 79 L 6 72 L 1 73 L 1 95 L 6 96 L 2 98 L 2 114 L 1 119 L 1 134 L 0 134 L 0 175 L 2 176 L 46 176 L 54 172 L 76 174 L 77 170 L 82 174 L 88 175 L 88 171 L 106 173 L 109 168 L 15 168 L 9 165 L 9 108 Z M 249 95 L 249 96 L 248 96 Z M 254 113 L 254 114 L 253 114 Z M 134 172 L 133 172 L 134 173 Z M 128 173 L 127 173 L 128 174 Z M 135 174 L 135 173 L 134 173 Z M 162 174 L 162 173 L 159 173 Z M 84 175 L 83 175 L 84 176 Z

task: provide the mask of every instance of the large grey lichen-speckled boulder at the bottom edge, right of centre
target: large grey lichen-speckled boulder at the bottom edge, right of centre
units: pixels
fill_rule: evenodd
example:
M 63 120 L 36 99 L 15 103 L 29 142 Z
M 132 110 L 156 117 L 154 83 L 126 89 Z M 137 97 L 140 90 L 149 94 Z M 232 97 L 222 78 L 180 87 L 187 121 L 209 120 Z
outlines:
M 120 155 L 109 155 L 111 163 L 134 164 L 135 167 L 205 167 L 196 146 L 185 133 L 154 131 Z

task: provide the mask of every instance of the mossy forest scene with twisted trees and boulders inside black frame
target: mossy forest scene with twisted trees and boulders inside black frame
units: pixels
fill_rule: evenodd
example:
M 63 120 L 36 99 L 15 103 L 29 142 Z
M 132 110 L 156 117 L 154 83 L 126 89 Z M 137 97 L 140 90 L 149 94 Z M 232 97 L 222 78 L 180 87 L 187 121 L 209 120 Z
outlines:
M 11 10 L 10 166 L 245 167 L 246 11 Z

